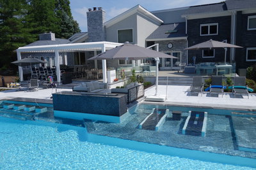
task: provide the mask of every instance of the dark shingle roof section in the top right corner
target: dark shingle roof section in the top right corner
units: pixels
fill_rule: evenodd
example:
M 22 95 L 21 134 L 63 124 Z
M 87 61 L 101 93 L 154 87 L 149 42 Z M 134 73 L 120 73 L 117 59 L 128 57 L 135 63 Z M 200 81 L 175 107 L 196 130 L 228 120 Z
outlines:
M 255 0 L 228 0 L 226 1 L 228 10 L 236 10 L 243 8 L 255 8 L 256 1 Z

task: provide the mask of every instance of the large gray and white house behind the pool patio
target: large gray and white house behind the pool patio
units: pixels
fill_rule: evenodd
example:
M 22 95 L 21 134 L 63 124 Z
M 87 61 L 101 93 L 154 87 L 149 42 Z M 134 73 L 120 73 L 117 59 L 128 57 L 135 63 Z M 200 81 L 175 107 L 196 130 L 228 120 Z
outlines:
M 246 67 L 256 63 L 255 0 L 227 0 L 221 3 L 158 11 L 148 11 L 138 4 L 111 20 L 106 21 L 105 19 L 106 11 L 102 8 L 88 9 L 88 32 L 74 34 L 65 40 L 66 44 L 113 42 L 118 45 L 118 43 L 129 41 L 139 46 L 148 47 L 158 43 L 160 52 L 178 57 L 178 59 L 160 60 L 159 69 L 171 70 L 178 69 L 180 63 L 192 64 L 193 58 L 196 64 L 202 62 L 223 63 L 225 50 L 222 48 L 184 50 L 188 46 L 214 39 L 243 46 L 243 48 L 227 49 L 227 62 L 232 63 L 233 68 L 239 73 L 244 73 Z M 61 42 L 64 43 L 64 41 Z M 52 48 L 52 46 L 44 46 L 46 49 L 48 47 Z M 104 49 L 99 46 L 93 49 L 86 48 L 87 50 L 83 50 L 85 47 L 77 50 L 60 49 L 62 53 L 59 55 L 59 64 L 83 65 L 99 69 L 105 67 L 99 60 L 88 60 L 88 58 L 104 52 Z M 28 49 L 26 50 L 28 51 Z M 54 60 L 54 55 L 50 57 L 50 60 Z M 150 64 L 154 64 L 154 60 L 106 61 L 106 67 L 143 67 Z

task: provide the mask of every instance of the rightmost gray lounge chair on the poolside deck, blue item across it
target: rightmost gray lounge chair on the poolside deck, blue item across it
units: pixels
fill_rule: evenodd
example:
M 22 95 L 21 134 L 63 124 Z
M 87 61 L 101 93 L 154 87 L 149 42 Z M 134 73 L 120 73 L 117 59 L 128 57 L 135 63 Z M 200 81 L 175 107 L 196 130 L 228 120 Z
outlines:
M 237 76 L 234 77 L 234 86 L 232 88 L 232 93 L 236 98 L 236 94 L 247 94 L 249 99 L 249 92 L 247 87 L 245 86 L 245 77 L 244 76 Z

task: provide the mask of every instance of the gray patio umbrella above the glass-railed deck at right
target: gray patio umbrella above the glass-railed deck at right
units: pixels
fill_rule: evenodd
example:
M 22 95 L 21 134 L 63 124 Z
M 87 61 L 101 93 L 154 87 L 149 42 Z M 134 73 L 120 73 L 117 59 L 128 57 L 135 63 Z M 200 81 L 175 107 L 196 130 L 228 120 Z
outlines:
M 199 49 L 211 49 L 211 48 L 225 48 L 225 63 L 227 56 L 227 48 L 243 48 L 242 46 L 232 45 L 228 43 L 223 43 L 220 41 L 214 41 L 210 39 L 209 41 L 205 41 L 203 43 L 199 43 L 197 45 L 190 46 L 185 48 L 184 50 L 199 50 Z

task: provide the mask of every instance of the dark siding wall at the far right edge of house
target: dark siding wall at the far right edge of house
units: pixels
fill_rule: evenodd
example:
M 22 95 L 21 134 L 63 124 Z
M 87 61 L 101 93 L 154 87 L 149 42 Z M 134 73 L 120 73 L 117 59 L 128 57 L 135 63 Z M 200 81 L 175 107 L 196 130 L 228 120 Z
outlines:
M 247 30 L 248 16 L 253 15 L 256 13 L 241 14 L 241 11 L 237 12 L 236 45 L 243 46 L 243 48 L 236 48 L 237 69 L 245 69 L 256 64 L 255 61 L 246 61 L 246 48 L 256 47 L 256 30 Z

